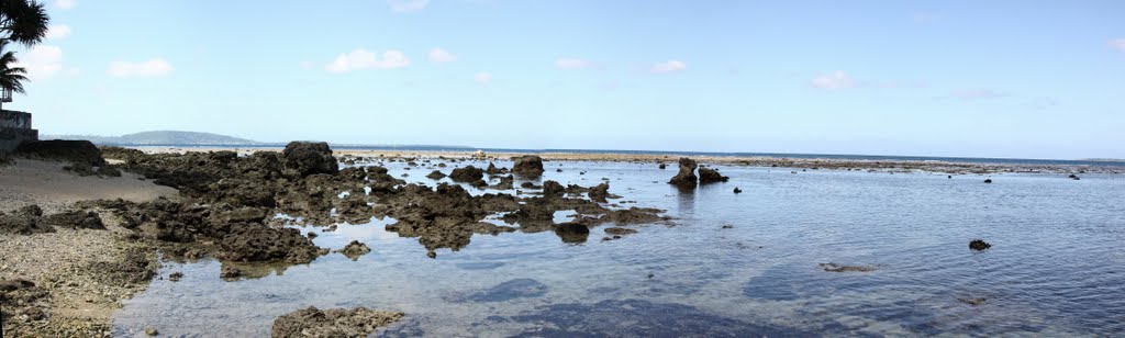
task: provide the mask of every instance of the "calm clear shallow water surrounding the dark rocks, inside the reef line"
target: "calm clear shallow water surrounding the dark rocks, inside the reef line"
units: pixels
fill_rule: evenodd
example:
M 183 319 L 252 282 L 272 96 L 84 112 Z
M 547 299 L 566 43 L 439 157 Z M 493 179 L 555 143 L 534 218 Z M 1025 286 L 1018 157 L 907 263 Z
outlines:
M 983 184 L 978 175 L 720 166 L 730 182 L 682 192 L 664 183 L 675 165 L 546 164 L 543 180 L 606 177 L 619 201 L 636 201 L 623 207 L 666 209 L 676 226 L 602 241 L 603 226 L 578 245 L 549 231 L 478 235 L 435 259 L 416 238 L 386 232 L 392 219 L 303 228 L 321 232 L 317 245 L 358 239 L 372 252 L 238 281 L 220 280 L 215 261 L 165 263 L 162 276 L 183 278 L 153 281 L 116 313 L 115 334 L 269 336 L 273 318 L 308 305 L 406 312 L 386 336 L 1125 332 L 1120 176 L 1005 174 Z M 433 185 L 432 168 L 386 166 Z M 992 248 L 971 252 L 974 238 Z M 821 263 L 878 270 L 832 273 Z

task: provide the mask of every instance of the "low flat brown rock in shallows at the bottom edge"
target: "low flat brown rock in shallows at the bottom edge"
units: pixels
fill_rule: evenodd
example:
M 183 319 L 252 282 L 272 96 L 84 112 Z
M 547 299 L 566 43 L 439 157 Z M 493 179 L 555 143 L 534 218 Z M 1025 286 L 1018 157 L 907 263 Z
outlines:
M 404 316 L 403 312 L 367 308 L 320 310 L 308 307 L 274 319 L 271 335 L 274 338 L 367 337 Z

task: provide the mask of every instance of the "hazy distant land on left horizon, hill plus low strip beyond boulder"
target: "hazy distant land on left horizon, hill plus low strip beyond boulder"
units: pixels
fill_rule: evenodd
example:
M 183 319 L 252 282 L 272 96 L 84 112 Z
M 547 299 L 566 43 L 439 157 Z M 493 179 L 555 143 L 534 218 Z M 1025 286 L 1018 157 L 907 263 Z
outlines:
M 40 135 L 40 139 L 87 139 L 99 146 L 251 146 L 251 147 L 284 147 L 285 141 L 258 141 L 238 138 L 234 136 L 218 135 L 212 133 L 179 131 L 179 130 L 154 130 L 127 134 L 122 136 L 94 136 L 94 135 Z M 442 145 L 363 145 L 363 144 L 332 144 L 333 147 L 342 148 L 411 148 L 411 149 L 474 149 L 467 146 L 442 146 Z

